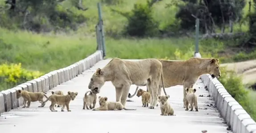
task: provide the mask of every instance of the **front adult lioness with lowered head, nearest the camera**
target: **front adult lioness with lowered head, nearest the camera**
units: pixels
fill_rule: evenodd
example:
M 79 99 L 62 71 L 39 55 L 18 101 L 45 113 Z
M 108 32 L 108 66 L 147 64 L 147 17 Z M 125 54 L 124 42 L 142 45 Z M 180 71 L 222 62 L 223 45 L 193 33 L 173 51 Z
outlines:
M 116 101 L 125 107 L 131 84 L 148 86 L 151 94 L 150 109 L 155 109 L 159 83 L 164 85 L 162 64 L 157 59 L 144 59 L 139 61 L 112 59 L 104 68 L 97 68 L 92 75 L 88 88 L 99 93 L 106 81 L 111 81 L 116 89 Z M 164 87 L 163 87 L 164 89 Z

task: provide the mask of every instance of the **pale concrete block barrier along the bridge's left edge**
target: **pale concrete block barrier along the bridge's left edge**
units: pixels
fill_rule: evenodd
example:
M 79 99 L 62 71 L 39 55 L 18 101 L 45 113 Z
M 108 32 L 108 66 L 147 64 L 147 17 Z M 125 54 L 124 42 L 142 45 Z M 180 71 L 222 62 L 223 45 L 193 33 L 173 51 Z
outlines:
M 11 109 L 17 109 L 18 107 L 23 106 L 23 98 L 21 97 L 17 99 L 16 97 L 17 90 L 26 90 L 29 92 L 47 92 L 48 90 L 52 90 L 57 85 L 75 78 L 78 76 L 78 74 L 83 73 L 83 71 L 91 68 L 102 59 L 103 51 L 98 50 L 89 57 L 75 62 L 66 68 L 51 71 L 50 73 L 47 73 L 37 79 L 19 84 L 14 88 L 1 91 L 0 114 L 4 111 L 10 111 Z

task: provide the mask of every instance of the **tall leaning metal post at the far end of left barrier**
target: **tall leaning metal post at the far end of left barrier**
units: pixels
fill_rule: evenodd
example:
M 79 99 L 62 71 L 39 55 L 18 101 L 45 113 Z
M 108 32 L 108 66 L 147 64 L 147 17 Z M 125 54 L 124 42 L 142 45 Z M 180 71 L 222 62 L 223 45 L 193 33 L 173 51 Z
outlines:
M 106 46 L 105 46 L 105 38 L 104 38 L 104 30 L 103 30 L 103 20 L 102 20 L 102 14 L 101 14 L 101 7 L 100 3 L 97 3 L 98 8 L 98 14 L 99 14 L 99 29 L 100 29 L 100 40 L 101 40 L 101 46 L 103 50 L 103 58 L 106 56 Z

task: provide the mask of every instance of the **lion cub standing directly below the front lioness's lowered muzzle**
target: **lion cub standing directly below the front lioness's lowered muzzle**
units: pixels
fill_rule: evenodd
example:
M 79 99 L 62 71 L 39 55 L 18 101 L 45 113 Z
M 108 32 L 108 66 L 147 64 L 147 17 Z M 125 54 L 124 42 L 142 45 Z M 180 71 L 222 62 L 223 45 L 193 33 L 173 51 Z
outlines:
M 89 95 L 86 95 L 88 92 L 89 92 Z M 96 99 L 97 99 L 97 96 L 92 91 L 89 90 L 85 92 L 83 97 L 83 109 L 85 109 L 85 107 L 86 109 L 89 109 L 88 106 L 90 107 L 90 109 L 95 108 Z

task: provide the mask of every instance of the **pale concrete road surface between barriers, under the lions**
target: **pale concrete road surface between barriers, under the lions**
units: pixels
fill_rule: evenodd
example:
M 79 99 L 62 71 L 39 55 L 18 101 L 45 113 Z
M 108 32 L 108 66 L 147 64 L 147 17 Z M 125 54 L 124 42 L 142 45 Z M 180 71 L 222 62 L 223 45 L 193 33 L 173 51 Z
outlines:
M 19 108 L 5 112 L 0 117 L 1 133 L 232 133 L 226 130 L 219 112 L 214 108 L 213 100 L 207 95 L 209 93 L 203 88 L 199 79 L 195 88 L 198 97 L 199 112 L 184 111 L 182 102 L 182 86 L 166 88 L 170 95 L 169 103 L 173 107 L 176 116 L 160 116 L 159 106 L 156 109 L 143 108 L 141 97 L 131 98 L 134 102 L 127 102 L 127 108 L 136 111 L 92 111 L 83 110 L 83 95 L 88 90 L 90 77 L 97 68 L 103 68 L 110 60 L 98 62 L 94 67 L 85 71 L 78 77 L 58 85 L 53 91 L 62 90 L 64 94 L 68 91 L 78 92 L 75 100 L 70 102 L 71 112 L 57 112 L 49 109 L 50 101 L 44 108 L 38 108 L 39 102 L 31 103 L 30 108 Z M 146 87 L 140 87 L 146 90 Z M 131 86 L 131 94 L 136 89 Z M 50 90 L 51 91 L 51 90 Z M 47 92 L 47 95 L 51 93 Z M 163 91 L 162 91 L 162 94 Z M 110 101 L 115 101 L 115 89 L 111 82 L 106 82 L 98 96 L 107 96 Z M 98 100 L 98 99 L 97 99 Z M 212 106 L 212 105 L 213 106 Z M 99 106 L 97 101 L 96 107 Z

